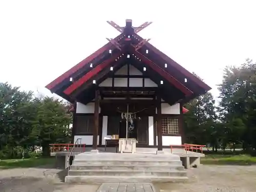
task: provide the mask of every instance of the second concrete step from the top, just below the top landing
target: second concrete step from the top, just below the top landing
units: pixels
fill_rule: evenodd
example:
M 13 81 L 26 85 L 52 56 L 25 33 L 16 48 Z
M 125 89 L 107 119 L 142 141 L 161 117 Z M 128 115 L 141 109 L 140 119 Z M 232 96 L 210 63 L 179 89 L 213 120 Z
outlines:
M 182 165 L 182 162 L 179 160 L 174 161 L 147 161 L 147 160 L 135 160 L 135 161 L 126 161 L 126 160 L 74 160 L 73 165 Z

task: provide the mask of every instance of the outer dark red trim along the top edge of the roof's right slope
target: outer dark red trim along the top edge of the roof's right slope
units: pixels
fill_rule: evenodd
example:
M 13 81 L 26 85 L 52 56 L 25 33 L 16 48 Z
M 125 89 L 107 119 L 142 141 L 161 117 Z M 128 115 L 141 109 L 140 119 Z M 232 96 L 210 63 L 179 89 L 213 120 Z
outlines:
M 143 38 L 138 35 L 138 38 L 142 40 Z M 211 88 L 204 83 L 201 79 L 197 78 L 195 75 L 187 71 L 185 68 L 183 68 L 179 63 L 165 55 L 163 52 L 158 50 L 156 47 L 150 44 L 150 42 L 146 42 L 145 45 L 149 50 L 154 51 L 154 53 L 158 54 L 162 59 L 166 61 L 169 65 L 172 65 L 174 68 L 179 70 L 183 75 L 185 75 L 187 78 L 193 80 L 195 83 L 197 83 L 201 88 L 203 88 L 205 91 L 211 90 Z

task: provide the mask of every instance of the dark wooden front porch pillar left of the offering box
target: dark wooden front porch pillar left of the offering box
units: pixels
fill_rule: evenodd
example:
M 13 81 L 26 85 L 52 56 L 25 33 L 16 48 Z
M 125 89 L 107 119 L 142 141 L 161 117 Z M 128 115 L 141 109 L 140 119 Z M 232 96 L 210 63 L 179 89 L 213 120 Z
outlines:
M 98 130 L 99 130 L 99 90 L 95 91 L 94 105 L 94 129 L 93 129 L 93 150 L 97 150 Z

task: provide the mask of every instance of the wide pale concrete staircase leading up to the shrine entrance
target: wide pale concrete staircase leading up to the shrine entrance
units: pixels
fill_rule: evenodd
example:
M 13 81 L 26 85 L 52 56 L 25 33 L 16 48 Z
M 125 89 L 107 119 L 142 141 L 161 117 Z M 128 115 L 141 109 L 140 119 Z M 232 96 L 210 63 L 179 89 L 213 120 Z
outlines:
M 65 182 L 181 182 L 187 179 L 179 156 L 154 154 L 77 155 Z

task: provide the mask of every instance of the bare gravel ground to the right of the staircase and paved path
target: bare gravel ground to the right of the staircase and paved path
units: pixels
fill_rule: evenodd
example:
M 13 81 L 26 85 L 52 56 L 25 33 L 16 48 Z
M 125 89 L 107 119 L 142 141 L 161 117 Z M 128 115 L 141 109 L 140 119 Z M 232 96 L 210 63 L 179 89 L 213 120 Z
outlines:
M 155 184 L 161 192 L 255 192 L 256 166 L 202 165 L 187 170 L 186 183 Z

